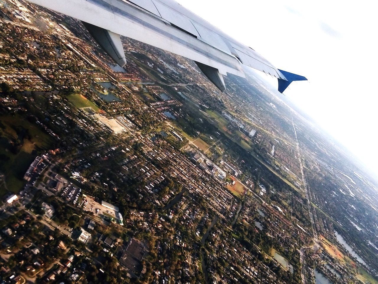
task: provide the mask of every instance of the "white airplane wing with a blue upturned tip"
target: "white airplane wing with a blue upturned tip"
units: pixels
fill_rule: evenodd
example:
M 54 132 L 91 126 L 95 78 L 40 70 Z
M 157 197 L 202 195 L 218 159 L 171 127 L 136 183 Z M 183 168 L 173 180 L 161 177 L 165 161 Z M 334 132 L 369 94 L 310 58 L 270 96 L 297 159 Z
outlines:
M 276 77 L 280 92 L 296 78 L 307 80 L 303 76 L 286 78 L 252 48 L 235 41 L 173 0 L 28 1 L 81 20 L 120 66 L 126 64 L 122 35 L 194 60 L 221 91 L 226 89 L 222 75 L 231 73 L 245 77 L 241 64 Z

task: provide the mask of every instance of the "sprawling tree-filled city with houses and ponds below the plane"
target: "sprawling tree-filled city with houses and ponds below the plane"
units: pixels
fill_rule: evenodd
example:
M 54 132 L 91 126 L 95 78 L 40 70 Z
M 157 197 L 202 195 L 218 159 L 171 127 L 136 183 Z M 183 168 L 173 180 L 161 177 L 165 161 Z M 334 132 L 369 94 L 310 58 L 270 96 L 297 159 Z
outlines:
M 378 283 L 377 182 L 254 73 L 0 16 L 0 283 Z

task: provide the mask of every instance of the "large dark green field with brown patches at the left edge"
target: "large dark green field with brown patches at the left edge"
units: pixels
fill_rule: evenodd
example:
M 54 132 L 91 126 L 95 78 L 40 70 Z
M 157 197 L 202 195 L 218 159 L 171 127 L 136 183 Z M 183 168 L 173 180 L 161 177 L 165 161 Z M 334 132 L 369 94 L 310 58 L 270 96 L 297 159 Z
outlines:
M 25 117 L 0 116 L 0 172 L 5 176 L 5 184 L 0 186 L 0 195 L 6 190 L 17 193 L 22 189 L 25 184 L 23 175 L 29 165 L 50 144 L 50 136 Z

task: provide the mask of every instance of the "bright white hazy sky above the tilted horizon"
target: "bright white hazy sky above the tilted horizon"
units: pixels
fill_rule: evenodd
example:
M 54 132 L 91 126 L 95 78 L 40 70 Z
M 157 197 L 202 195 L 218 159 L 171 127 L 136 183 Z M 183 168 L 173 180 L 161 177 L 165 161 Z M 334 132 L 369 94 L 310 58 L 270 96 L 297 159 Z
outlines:
M 277 68 L 306 76 L 285 95 L 378 176 L 378 3 L 177 1 Z

